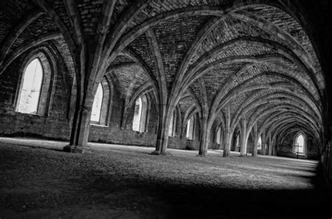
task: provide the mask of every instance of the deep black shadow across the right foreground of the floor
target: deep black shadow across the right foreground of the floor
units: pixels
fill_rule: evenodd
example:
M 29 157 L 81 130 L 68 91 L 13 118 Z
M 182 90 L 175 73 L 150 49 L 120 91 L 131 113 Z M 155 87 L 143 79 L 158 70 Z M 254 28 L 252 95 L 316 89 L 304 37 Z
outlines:
M 319 174 L 311 180 L 315 187 L 308 190 L 237 190 L 195 185 L 195 182 L 193 185 L 177 185 L 176 182 L 151 179 L 145 179 L 144 183 L 124 182 L 123 188 L 112 188 L 112 182 L 102 176 L 87 190 L 117 191 L 121 197 L 119 206 L 130 208 L 134 205 L 134 209 L 143 212 L 153 209 L 155 215 L 163 216 L 151 218 L 329 219 L 331 204 L 324 183 Z M 95 201 L 108 202 L 107 199 Z

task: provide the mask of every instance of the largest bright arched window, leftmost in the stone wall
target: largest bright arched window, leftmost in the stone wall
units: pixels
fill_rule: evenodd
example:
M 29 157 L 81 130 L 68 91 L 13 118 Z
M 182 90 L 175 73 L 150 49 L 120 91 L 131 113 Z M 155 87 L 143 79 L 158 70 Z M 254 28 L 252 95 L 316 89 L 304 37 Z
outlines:
M 43 83 L 43 67 L 38 58 L 33 59 L 25 68 L 16 111 L 37 114 L 41 85 Z

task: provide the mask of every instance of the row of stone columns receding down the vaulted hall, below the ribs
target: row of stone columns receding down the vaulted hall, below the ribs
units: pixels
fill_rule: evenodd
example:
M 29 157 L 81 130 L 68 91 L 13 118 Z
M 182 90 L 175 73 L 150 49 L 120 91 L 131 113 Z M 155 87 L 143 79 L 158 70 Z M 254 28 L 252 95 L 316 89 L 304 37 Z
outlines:
M 88 105 L 92 105 L 91 103 L 93 102 L 93 98 L 90 97 L 88 100 Z M 91 114 L 91 107 L 78 107 L 76 108 L 76 123 L 73 124 L 73 130 L 71 133 L 71 139 L 70 139 L 70 144 L 69 146 L 64 147 L 64 151 L 67 152 L 74 152 L 74 153 L 85 153 L 85 152 L 91 152 L 91 149 L 88 147 L 88 134 L 90 130 L 90 114 Z M 164 115 L 165 116 L 165 115 Z M 153 154 L 155 155 L 160 155 L 160 154 L 166 154 L 167 153 L 167 143 L 168 143 L 168 128 L 170 122 L 167 122 L 167 119 L 162 118 L 162 115 L 160 115 L 159 119 L 159 125 L 158 125 L 158 139 L 157 139 L 157 145 L 155 148 L 155 151 Z M 201 138 L 200 138 L 200 151 L 199 155 L 202 157 L 205 157 L 207 155 L 207 146 L 208 146 L 208 139 L 209 139 L 209 134 L 210 130 L 207 129 L 207 121 L 203 121 L 204 125 L 202 127 L 202 132 L 201 132 Z M 79 127 L 80 132 L 75 132 L 77 128 Z M 223 148 L 223 157 L 229 157 L 230 156 L 230 147 L 233 139 L 233 132 L 230 127 L 230 104 L 226 104 L 226 114 L 225 114 L 225 127 L 224 127 L 224 148 Z M 241 138 L 241 148 L 240 148 L 240 156 L 247 156 L 247 140 L 249 133 L 247 133 L 247 120 L 245 116 L 243 116 L 241 120 L 241 133 L 242 133 L 242 138 Z M 254 125 L 253 129 L 253 134 L 254 134 L 254 151 L 252 155 L 254 157 L 257 156 L 257 150 L 258 150 L 258 130 L 257 130 L 257 125 Z M 269 147 L 267 147 L 267 143 L 269 142 Z M 272 150 L 272 145 L 274 142 L 274 138 L 272 139 L 271 135 L 269 134 L 268 136 L 265 136 L 265 130 L 261 134 L 261 155 L 272 155 L 273 150 Z M 166 147 L 165 147 L 166 146 Z M 268 149 L 268 150 L 267 150 Z

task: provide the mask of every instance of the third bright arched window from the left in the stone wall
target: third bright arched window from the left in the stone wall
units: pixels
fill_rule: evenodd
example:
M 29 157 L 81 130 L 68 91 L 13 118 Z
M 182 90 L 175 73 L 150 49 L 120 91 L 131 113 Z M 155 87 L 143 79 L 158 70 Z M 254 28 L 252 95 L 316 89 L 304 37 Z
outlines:
M 139 97 L 135 101 L 134 119 L 132 120 L 132 130 L 146 132 L 148 100 L 146 95 Z

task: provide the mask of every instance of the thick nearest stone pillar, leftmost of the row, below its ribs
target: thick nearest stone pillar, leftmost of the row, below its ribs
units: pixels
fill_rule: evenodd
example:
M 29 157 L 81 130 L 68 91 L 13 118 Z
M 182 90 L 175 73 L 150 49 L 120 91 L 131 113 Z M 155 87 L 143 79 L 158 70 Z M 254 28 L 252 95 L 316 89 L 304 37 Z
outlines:
M 91 152 L 88 146 L 88 138 L 90 132 L 90 118 L 93 104 L 93 96 L 83 97 L 81 101 L 76 103 L 74 111 L 73 126 L 71 128 L 70 143 L 63 150 L 71 153 Z

